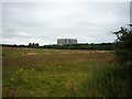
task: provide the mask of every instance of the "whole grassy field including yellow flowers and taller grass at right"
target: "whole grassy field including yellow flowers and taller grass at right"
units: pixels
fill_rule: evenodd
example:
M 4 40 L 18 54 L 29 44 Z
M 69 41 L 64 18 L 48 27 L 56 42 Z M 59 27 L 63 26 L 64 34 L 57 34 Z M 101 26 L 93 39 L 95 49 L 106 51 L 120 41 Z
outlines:
M 107 72 L 113 72 L 112 52 L 3 47 L 2 56 L 3 97 L 9 88 L 15 88 L 16 97 L 125 96 L 125 81 Z M 114 91 L 106 90 L 108 85 Z M 124 86 L 120 94 L 117 85 Z

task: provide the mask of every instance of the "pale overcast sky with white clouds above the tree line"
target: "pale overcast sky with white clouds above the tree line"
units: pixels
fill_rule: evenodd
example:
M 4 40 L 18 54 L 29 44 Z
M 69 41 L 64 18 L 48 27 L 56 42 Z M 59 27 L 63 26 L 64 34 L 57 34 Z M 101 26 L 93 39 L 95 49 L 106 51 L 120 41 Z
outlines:
M 2 42 L 56 44 L 57 38 L 79 43 L 113 42 L 111 33 L 130 23 L 130 2 L 43 0 L 2 2 Z

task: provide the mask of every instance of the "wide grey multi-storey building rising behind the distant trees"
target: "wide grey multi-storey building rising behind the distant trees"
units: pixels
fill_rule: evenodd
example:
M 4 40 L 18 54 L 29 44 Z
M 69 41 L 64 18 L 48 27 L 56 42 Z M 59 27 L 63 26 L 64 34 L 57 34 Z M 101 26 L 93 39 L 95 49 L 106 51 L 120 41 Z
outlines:
M 64 44 L 77 44 L 76 38 L 57 38 L 57 45 L 64 45 Z

